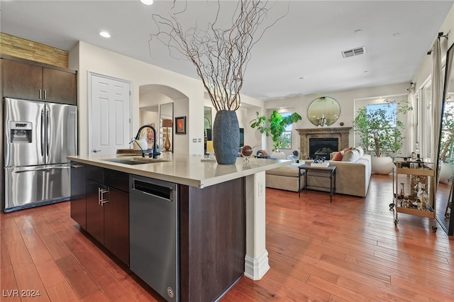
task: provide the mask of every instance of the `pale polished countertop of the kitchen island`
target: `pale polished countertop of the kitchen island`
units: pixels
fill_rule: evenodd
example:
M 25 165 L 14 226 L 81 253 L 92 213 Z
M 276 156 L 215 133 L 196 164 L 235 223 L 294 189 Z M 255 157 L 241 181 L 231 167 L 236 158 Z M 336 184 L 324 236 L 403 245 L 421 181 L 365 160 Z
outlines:
M 171 152 L 162 152 L 160 155 L 160 160 L 167 160 L 167 162 L 131 165 L 106 161 L 113 158 L 137 159 L 138 157 L 140 156 L 78 155 L 68 156 L 67 158 L 74 162 L 92 164 L 97 167 L 170 181 L 176 184 L 196 186 L 198 188 L 220 184 L 231 179 L 245 177 L 290 164 L 289 160 L 265 160 L 252 157 L 248 162 L 243 157 L 238 157 L 236 164 L 217 164 L 216 161 L 202 162 L 201 160 L 206 158 L 203 155 L 180 155 L 172 154 Z

